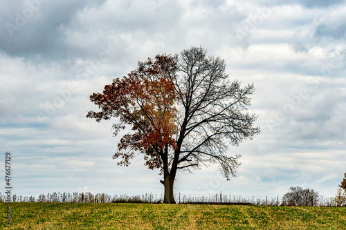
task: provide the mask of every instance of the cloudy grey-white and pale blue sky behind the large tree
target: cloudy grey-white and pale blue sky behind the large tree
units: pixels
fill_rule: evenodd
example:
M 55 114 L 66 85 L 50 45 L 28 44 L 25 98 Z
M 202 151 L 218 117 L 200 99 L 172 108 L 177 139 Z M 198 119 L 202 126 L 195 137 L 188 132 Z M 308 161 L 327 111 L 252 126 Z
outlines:
M 346 172 L 346 2 L 0 1 L 0 170 L 12 193 L 163 193 L 143 155 L 112 160 L 116 119 L 86 118 L 89 100 L 138 61 L 201 46 L 255 84 L 262 133 L 230 146 L 237 178 L 212 165 L 176 176 L 174 193 L 282 196 L 291 186 L 336 194 Z M 4 184 L 4 182 L 3 182 Z

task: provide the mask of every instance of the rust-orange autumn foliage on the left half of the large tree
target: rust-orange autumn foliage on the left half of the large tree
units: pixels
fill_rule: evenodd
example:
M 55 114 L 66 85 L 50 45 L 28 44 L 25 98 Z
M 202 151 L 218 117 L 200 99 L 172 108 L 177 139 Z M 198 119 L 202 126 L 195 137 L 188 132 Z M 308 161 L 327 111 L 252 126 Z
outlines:
M 102 94 L 91 95 L 91 101 L 102 111 L 90 111 L 87 117 L 98 121 L 119 117 L 121 123 L 113 125 L 115 135 L 125 124 L 134 131 L 124 135 L 118 144 L 118 152 L 113 155 L 122 158 L 118 164 L 128 166 L 134 151 L 140 151 L 145 153 L 149 169 L 161 169 L 161 155 L 167 148 L 176 148 L 174 104 L 178 96 L 172 82 L 175 72 L 172 57 L 157 55 L 155 61 L 139 62 L 136 70 L 104 86 Z

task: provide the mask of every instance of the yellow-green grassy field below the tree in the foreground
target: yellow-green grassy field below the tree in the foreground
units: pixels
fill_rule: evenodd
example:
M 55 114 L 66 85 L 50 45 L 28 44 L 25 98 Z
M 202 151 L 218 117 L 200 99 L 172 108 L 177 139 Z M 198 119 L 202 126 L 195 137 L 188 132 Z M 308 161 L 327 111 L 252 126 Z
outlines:
M 11 203 L 0 229 L 346 229 L 346 207 Z

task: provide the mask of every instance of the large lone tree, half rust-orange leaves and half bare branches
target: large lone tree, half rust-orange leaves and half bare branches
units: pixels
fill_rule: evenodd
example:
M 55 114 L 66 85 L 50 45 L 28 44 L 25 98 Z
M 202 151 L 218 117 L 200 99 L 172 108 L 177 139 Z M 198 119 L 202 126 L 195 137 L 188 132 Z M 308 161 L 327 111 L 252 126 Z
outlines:
M 86 117 L 118 117 L 114 134 L 132 126 L 113 158 L 129 165 L 134 152 L 144 154 L 149 169 L 160 169 L 165 203 L 175 203 L 174 180 L 178 170 L 200 169 L 218 163 L 227 180 L 236 175 L 241 155 L 228 156 L 229 144 L 238 145 L 260 133 L 256 115 L 246 112 L 253 84 L 242 88 L 230 82 L 226 62 L 207 57 L 203 48 L 192 47 L 174 57 L 156 55 L 138 62 L 138 68 L 122 79 L 113 79 L 103 93 L 90 99 L 101 108 Z M 127 152 L 122 152 L 127 150 Z

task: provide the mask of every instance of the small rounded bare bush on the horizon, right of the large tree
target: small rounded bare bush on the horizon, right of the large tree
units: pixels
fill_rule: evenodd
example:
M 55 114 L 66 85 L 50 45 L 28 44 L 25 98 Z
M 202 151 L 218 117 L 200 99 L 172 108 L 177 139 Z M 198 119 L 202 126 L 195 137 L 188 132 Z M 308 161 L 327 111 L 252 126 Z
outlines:
M 313 189 L 302 189 L 300 186 L 291 187 L 282 197 L 288 206 L 313 206 L 318 202 L 318 192 Z

